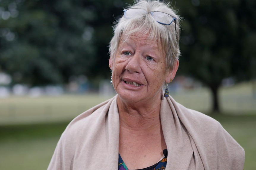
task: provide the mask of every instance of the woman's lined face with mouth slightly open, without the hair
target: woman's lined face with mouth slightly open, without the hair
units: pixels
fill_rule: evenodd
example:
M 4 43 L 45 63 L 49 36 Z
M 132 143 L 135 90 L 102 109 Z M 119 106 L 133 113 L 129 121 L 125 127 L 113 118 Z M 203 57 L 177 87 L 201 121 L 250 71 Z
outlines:
M 164 82 L 174 78 L 171 71 L 166 72 L 162 46 L 147 35 L 130 35 L 124 42 L 125 38 L 121 38 L 116 55 L 109 61 L 118 96 L 130 103 L 159 99 Z

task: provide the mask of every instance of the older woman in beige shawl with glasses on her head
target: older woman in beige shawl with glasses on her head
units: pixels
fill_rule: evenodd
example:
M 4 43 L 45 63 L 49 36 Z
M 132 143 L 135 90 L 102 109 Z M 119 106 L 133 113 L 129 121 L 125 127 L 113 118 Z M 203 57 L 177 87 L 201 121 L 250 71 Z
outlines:
M 243 148 L 219 122 L 169 96 L 179 31 L 168 4 L 141 0 L 124 10 L 110 42 L 117 95 L 68 125 L 49 170 L 243 169 Z

